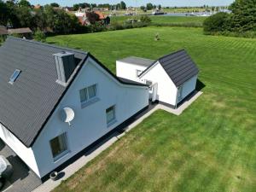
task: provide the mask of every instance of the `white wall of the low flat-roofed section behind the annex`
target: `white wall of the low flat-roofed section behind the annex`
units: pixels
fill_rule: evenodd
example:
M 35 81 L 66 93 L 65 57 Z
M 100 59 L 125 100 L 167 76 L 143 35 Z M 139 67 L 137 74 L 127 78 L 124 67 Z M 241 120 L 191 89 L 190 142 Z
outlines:
M 137 78 L 137 70 L 142 72 L 147 67 L 130 64 L 122 61 L 116 61 L 116 75 L 120 78 L 130 79 L 132 81 L 140 82 L 140 79 Z

